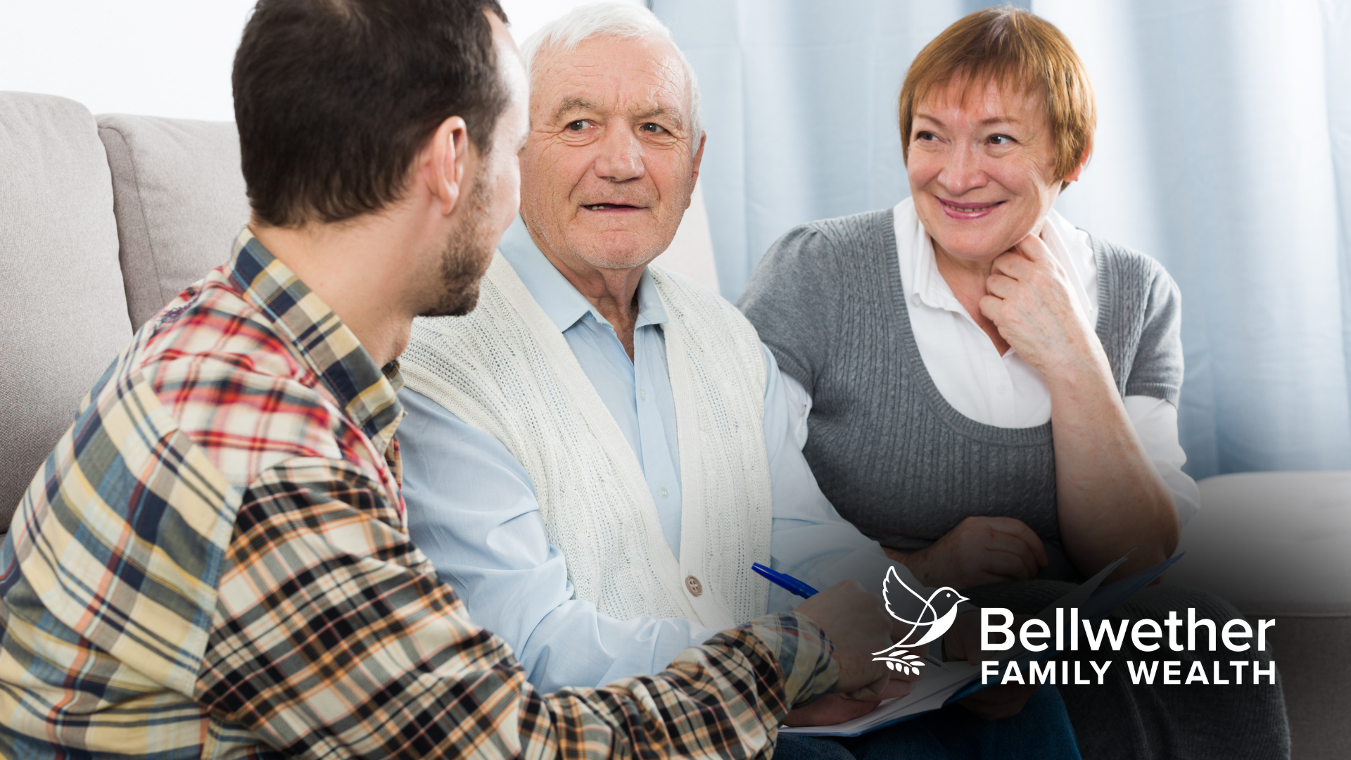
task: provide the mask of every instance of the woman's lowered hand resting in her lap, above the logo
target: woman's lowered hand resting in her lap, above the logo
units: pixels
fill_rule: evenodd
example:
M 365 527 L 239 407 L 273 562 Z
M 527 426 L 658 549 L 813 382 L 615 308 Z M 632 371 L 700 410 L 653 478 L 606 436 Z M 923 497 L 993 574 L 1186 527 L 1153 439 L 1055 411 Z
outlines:
M 1046 546 L 1020 519 L 969 517 L 932 545 L 909 554 L 886 549 L 924 586 L 971 588 L 1004 580 L 1028 580 L 1046 567 Z

